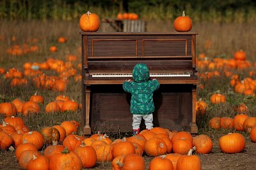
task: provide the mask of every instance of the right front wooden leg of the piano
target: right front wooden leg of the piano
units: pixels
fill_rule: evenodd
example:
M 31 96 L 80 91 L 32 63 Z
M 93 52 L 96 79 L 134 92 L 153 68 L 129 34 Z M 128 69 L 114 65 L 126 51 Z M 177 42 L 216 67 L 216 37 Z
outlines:
M 197 133 L 198 128 L 196 125 L 196 85 L 193 85 L 192 89 L 192 124 L 191 124 L 191 133 Z

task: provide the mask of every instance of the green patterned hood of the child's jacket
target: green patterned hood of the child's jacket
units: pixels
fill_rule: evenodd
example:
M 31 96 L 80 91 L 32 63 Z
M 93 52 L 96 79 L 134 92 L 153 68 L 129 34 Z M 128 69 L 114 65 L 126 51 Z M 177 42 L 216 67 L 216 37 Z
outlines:
M 150 77 L 148 66 L 146 64 L 136 64 L 133 67 L 132 78 L 134 81 L 140 83 L 142 81 L 148 81 Z

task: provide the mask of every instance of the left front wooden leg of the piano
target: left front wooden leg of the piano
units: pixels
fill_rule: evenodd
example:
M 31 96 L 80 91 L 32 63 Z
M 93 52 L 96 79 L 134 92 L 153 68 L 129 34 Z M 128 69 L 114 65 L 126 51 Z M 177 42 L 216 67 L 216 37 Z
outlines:
M 84 126 L 84 135 L 92 134 L 90 127 L 90 94 L 91 89 L 90 86 L 86 85 L 85 89 L 85 126 Z

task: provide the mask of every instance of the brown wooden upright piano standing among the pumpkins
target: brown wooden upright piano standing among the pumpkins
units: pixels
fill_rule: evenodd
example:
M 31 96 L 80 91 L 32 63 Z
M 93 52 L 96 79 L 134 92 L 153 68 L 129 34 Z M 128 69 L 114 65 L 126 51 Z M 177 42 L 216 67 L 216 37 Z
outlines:
M 197 133 L 196 32 L 81 32 L 83 134 L 131 132 L 131 95 L 122 84 L 147 64 L 160 88 L 154 127 Z M 141 129 L 145 129 L 141 122 Z

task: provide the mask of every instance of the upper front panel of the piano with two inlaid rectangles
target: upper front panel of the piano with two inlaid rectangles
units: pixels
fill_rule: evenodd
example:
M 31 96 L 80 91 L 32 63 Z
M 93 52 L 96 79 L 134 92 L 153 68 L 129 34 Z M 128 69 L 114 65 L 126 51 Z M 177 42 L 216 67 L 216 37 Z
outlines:
M 96 58 L 188 56 L 191 35 L 88 36 L 88 60 Z

